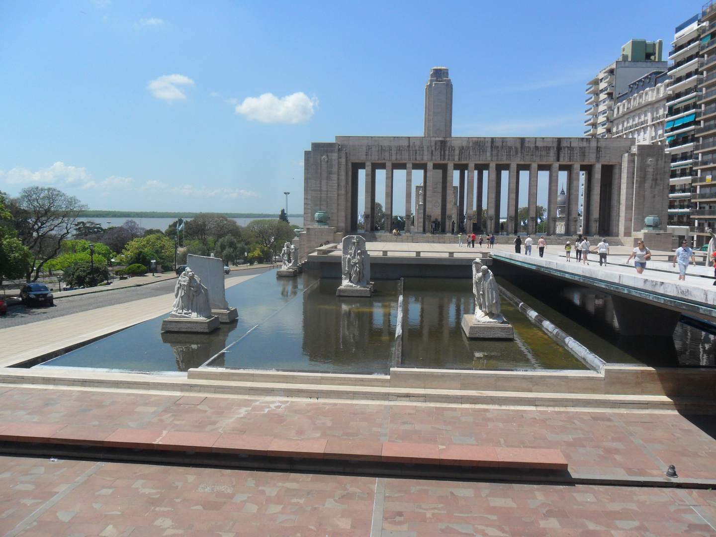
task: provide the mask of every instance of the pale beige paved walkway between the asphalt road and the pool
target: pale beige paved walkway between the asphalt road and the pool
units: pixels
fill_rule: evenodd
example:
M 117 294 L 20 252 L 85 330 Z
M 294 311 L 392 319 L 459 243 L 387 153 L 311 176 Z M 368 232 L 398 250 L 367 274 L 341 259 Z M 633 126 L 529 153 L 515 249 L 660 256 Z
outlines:
M 226 279 L 225 284 L 230 287 L 254 276 L 256 274 L 236 276 Z M 0 367 L 10 367 L 37 357 L 50 357 L 64 349 L 79 347 L 148 321 L 170 311 L 173 299 L 173 294 L 163 294 L 0 329 Z

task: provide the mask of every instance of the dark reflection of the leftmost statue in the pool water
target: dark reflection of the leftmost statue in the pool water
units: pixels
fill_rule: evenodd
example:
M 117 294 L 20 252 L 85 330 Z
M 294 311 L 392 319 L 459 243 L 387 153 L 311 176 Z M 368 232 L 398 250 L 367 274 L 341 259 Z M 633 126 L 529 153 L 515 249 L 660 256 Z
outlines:
M 211 334 L 190 332 L 162 332 L 162 342 L 170 344 L 177 363 L 177 371 L 188 371 L 200 367 L 209 358 L 226 349 L 228 334 L 236 328 L 237 321 L 221 324 Z M 223 366 L 223 355 L 211 362 L 212 366 Z

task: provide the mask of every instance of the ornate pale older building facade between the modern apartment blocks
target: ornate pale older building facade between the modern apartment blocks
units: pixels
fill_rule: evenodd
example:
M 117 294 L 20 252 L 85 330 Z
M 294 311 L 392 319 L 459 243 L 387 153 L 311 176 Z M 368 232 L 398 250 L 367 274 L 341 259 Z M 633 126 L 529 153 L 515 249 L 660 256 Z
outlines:
M 611 137 L 636 138 L 639 144 L 662 144 L 666 139 L 669 75 L 652 71 L 617 95 Z

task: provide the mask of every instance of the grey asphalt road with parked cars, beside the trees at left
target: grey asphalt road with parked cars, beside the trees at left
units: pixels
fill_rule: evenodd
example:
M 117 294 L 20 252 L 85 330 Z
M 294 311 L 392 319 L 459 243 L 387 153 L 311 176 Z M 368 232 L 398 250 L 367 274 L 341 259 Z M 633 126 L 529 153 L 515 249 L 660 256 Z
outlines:
M 271 267 L 259 267 L 258 269 L 232 271 L 231 274 L 226 277 L 235 278 L 236 276 L 261 274 L 269 269 L 271 269 Z M 51 307 L 28 307 L 23 306 L 22 304 L 9 306 L 7 314 L 0 317 L 0 329 L 7 328 L 9 326 L 19 326 L 21 324 L 44 321 L 46 319 L 54 319 L 56 317 L 75 314 L 89 309 L 104 308 L 105 306 L 114 306 L 115 304 L 124 304 L 125 302 L 173 293 L 175 284 L 175 279 L 171 279 L 161 281 L 157 284 L 145 285 L 141 287 L 127 287 L 125 289 L 105 291 L 102 293 L 65 296 L 62 299 L 55 299 L 54 306 Z

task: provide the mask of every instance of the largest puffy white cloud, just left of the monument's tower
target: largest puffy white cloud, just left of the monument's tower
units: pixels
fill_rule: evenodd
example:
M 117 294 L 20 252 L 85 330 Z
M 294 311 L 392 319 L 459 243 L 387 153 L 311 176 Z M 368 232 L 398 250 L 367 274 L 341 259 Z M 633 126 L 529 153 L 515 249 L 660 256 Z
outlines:
M 281 99 L 273 93 L 264 93 L 260 97 L 246 97 L 236 106 L 236 112 L 262 123 L 305 123 L 314 115 L 317 105 L 318 99 L 309 98 L 304 92 Z

